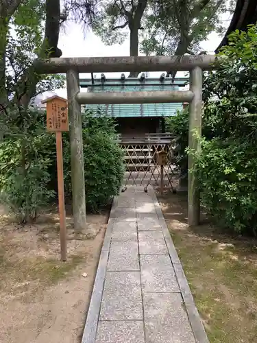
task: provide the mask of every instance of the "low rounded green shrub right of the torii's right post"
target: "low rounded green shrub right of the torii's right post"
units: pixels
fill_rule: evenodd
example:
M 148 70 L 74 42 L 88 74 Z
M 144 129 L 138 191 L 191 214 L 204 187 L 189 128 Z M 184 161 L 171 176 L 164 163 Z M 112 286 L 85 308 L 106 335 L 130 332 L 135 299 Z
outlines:
M 256 145 L 212 139 L 201 146 L 201 154 L 193 154 L 202 205 L 219 225 L 256 235 Z

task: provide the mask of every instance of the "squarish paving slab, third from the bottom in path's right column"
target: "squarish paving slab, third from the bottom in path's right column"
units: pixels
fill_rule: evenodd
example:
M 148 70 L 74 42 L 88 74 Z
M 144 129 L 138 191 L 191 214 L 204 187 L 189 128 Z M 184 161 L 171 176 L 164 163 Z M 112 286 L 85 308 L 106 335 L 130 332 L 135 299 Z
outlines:
M 162 231 L 138 231 L 139 255 L 168 255 Z

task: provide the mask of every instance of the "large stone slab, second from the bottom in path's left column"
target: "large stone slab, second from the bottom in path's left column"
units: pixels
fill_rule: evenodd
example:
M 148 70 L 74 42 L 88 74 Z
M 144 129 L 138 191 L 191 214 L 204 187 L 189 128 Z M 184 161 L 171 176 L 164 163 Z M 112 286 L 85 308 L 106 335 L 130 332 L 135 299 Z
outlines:
M 140 272 L 106 272 L 99 320 L 143 320 Z

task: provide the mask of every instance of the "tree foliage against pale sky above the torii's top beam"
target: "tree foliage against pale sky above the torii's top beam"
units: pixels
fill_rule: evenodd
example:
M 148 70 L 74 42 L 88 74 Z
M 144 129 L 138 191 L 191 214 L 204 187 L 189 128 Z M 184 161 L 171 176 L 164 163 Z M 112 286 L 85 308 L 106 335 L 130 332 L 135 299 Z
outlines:
M 130 56 L 198 54 L 211 32 L 224 33 L 222 14 L 236 0 L 101 0 L 93 21 L 104 43 L 130 36 Z M 140 43 L 140 47 L 139 47 Z M 133 74 L 134 75 L 134 74 Z

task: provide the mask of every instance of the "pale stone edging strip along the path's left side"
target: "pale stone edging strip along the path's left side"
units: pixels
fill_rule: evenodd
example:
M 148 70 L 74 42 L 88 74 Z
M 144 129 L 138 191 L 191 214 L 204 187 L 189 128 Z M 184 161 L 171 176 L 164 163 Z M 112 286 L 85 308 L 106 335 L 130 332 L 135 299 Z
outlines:
M 112 202 L 112 209 L 106 228 L 106 235 L 103 239 L 103 246 L 101 247 L 101 254 L 97 265 L 97 274 L 95 275 L 95 281 L 93 291 L 90 298 L 90 304 L 88 307 L 88 314 L 86 316 L 86 324 L 84 326 L 82 343 L 95 343 L 97 335 L 98 318 L 101 309 L 101 298 L 103 295 L 103 286 L 106 279 L 106 270 L 108 263 L 108 255 L 110 250 L 110 241 L 112 237 L 112 228 L 114 224 L 114 211 L 118 205 L 117 197 L 114 197 Z

